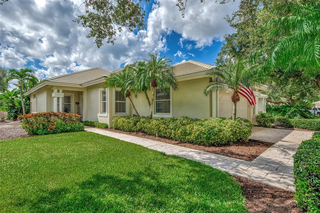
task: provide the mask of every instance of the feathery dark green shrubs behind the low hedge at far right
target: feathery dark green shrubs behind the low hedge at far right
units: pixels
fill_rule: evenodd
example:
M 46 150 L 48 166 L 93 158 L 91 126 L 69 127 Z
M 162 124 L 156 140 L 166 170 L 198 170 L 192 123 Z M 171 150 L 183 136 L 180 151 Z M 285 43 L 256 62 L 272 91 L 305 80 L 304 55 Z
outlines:
M 281 105 L 281 106 L 271 106 L 266 105 L 266 111 L 273 116 L 279 115 L 287 118 L 306 118 L 313 119 L 315 116 L 304 107 L 300 105 Z

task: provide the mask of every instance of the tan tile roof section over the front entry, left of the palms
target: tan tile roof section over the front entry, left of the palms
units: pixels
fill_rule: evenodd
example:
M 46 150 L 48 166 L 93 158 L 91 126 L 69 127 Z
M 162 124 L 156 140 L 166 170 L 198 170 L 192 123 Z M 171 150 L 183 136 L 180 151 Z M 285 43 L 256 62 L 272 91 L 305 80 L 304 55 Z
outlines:
M 101 68 L 91 68 L 87 70 L 81 70 L 77 72 L 71 72 L 64 75 L 47 78 L 44 81 L 57 82 L 57 83 L 69 83 L 69 84 L 83 84 L 94 79 L 101 78 L 103 76 L 110 75 L 108 70 Z

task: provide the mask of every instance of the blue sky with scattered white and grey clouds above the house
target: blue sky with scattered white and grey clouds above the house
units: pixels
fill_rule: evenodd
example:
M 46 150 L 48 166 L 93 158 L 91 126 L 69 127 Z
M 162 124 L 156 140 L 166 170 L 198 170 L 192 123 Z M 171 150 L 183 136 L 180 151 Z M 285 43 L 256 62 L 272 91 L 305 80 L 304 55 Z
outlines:
M 84 10 L 83 0 L 10 2 L 0 5 L 0 66 L 31 68 L 37 78 L 92 67 L 112 71 L 154 51 L 173 64 L 188 60 L 214 64 L 223 36 L 232 33 L 224 18 L 239 4 L 239 0 L 225 5 L 189 0 L 182 18 L 176 0 L 152 0 L 146 7 L 145 29 L 124 29 L 114 45 L 97 48 L 94 38 L 86 38 L 89 29 L 73 22 Z

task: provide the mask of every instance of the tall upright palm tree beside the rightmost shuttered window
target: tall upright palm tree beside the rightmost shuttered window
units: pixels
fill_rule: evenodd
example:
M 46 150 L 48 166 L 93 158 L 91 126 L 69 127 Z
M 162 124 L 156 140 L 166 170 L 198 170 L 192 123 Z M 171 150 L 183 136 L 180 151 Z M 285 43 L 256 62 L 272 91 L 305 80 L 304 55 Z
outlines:
M 168 87 L 173 90 L 178 89 L 177 79 L 173 75 L 173 67 L 169 65 L 171 59 L 160 57 L 159 53 L 149 53 L 149 58 L 143 59 L 145 62 L 145 69 L 140 69 L 137 73 L 137 83 L 140 84 L 138 89 L 142 87 L 151 88 L 151 101 L 150 101 L 150 119 L 153 112 L 153 100 L 155 98 L 156 88 L 165 92 Z

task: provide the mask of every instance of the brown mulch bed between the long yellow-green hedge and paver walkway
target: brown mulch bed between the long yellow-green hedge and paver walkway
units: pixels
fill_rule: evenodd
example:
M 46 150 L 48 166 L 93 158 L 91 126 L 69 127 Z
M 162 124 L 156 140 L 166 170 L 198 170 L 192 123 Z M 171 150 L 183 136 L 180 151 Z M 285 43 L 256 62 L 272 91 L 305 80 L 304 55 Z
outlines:
M 236 158 L 240 160 L 252 161 L 264 151 L 266 151 L 274 143 L 269 143 L 265 141 L 251 140 L 249 141 L 239 141 L 233 144 L 225 144 L 222 146 L 204 146 L 196 145 L 192 143 L 183 143 L 180 141 L 174 141 L 168 138 L 156 137 L 153 135 L 148 135 L 143 132 L 125 132 L 112 128 L 108 128 L 108 131 L 123 133 L 127 135 L 133 135 L 137 137 L 147 138 L 154 141 L 160 141 L 164 143 L 170 143 L 178 146 L 187 147 L 190 149 L 200 150 L 204 152 L 210 152 L 214 154 L 219 154 L 231 158 Z

